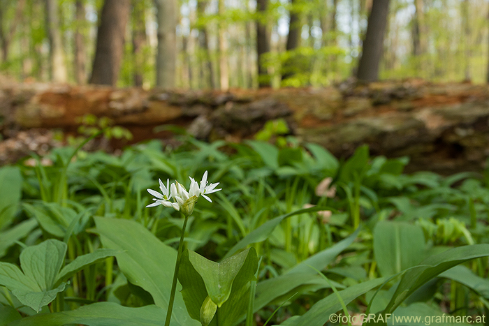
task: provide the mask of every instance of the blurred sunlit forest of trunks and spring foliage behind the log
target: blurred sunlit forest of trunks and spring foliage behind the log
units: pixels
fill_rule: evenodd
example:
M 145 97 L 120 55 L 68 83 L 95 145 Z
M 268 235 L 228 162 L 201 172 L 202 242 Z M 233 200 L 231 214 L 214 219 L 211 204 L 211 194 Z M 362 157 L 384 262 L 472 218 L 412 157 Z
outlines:
M 182 89 L 483 83 L 488 13 L 487 0 L 0 0 L 0 73 Z

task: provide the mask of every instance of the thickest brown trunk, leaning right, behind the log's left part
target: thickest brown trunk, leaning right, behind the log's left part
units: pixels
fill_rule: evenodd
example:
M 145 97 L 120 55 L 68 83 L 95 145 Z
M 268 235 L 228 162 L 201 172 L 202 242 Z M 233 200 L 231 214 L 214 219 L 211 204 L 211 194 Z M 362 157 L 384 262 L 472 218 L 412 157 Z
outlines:
M 117 84 L 130 11 L 129 0 L 105 0 L 103 3 L 90 84 Z

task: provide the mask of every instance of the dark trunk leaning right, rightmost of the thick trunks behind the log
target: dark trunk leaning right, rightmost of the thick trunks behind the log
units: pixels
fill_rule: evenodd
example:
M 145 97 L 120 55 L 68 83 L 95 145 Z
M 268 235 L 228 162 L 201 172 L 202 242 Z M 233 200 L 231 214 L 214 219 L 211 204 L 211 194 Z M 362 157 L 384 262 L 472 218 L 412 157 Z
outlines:
M 362 57 L 358 64 L 359 80 L 374 82 L 379 77 L 379 63 L 384 48 L 389 0 L 374 0 L 368 17 L 367 35 L 363 42 Z

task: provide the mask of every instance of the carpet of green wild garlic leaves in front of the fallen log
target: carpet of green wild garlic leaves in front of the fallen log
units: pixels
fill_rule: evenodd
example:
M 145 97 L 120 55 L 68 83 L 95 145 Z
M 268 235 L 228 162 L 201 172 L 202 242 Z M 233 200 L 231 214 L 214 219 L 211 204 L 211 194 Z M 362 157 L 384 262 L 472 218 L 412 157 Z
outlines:
M 2 326 L 487 323 L 489 171 L 408 175 L 293 138 L 34 162 L 0 168 Z

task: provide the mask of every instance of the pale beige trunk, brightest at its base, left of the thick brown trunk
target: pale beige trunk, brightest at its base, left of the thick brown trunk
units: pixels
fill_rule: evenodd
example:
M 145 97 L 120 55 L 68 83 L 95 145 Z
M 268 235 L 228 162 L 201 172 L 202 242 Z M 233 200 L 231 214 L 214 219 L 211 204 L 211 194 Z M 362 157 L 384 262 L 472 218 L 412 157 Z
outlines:
M 51 79 L 54 82 L 66 82 L 68 73 L 64 63 L 63 44 L 59 29 L 57 0 L 46 1 L 46 24 L 50 43 Z

